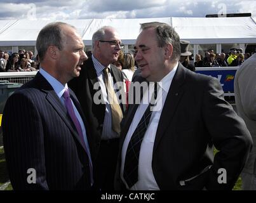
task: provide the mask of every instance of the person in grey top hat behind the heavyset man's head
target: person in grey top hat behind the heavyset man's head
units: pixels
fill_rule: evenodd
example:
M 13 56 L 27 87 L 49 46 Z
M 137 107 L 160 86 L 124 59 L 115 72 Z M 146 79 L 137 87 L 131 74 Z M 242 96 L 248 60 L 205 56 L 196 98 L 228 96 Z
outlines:
M 189 44 L 189 41 L 180 40 L 180 63 L 182 63 L 185 68 L 195 71 L 196 69 L 194 65 L 189 63 L 189 56 L 192 55 L 192 53 L 189 51 Z

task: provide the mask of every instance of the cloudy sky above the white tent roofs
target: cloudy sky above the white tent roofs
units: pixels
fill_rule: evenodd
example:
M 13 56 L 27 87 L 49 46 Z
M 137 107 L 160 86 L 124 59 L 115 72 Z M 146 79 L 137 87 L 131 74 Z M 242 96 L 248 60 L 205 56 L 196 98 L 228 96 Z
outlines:
M 183 3 L 182 3 L 183 2 Z M 255 0 L 1 0 L 0 20 L 205 17 L 252 13 Z

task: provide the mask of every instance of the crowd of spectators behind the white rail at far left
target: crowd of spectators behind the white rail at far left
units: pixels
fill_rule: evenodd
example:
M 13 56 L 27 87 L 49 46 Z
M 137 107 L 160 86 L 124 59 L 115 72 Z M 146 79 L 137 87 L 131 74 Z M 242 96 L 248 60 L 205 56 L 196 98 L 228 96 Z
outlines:
M 0 50 L 0 72 L 24 72 L 39 69 L 39 62 L 32 51 L 19 50 L 18 53 L 8 53 Z

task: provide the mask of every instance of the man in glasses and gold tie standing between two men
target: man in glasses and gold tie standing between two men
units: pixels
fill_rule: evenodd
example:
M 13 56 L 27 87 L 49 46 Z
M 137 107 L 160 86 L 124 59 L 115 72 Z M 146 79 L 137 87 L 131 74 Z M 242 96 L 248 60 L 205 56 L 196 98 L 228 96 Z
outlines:
M 69 82 L 69 86 L 81 103 L 84 114 L 91 118 L 90 128 L 97 130 L 93 148 L 96 154 L 95 187 L 100 190 L 114 188 L 120 122 L 123 119 L 125 103 L 113 107 L 110 95 L 112 95 L 111 89 L 113 92 L 113 89 L 121 88 L 116 92 L 124 93 L 121 71 L 112 65 L 118 60 L 122 47 L 114 28 L 102 27 L 97 30 L 92 37 L 91 58 L 84 63 L 80 76 Z M 105 70 L 108 70 L 107 74 Z M 114 94 L 112 99 L 119 98 Z M 121 101 L 123 99 L 124 96 Z

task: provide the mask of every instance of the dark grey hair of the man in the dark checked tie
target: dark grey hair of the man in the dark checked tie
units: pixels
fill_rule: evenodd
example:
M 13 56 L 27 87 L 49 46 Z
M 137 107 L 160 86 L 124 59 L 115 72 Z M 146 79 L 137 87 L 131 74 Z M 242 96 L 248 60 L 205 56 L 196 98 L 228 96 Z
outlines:
M 173 54 L 171 60 L 179 61 L 180 59 L 180 37 L 179 34 L 167 23 L 149 22 L 140 24 L 140 30 L 153 28 L 156 30 L 156 37 L 159 47 L 166 44 L 172 44 Z

